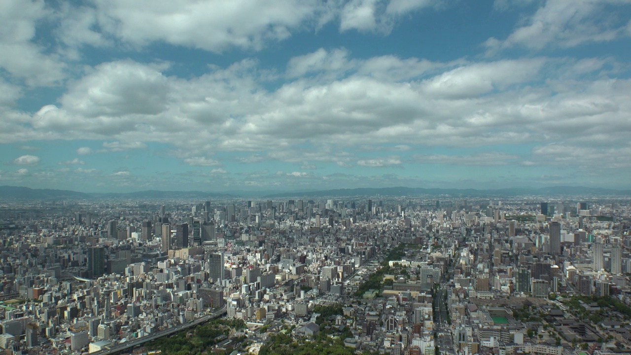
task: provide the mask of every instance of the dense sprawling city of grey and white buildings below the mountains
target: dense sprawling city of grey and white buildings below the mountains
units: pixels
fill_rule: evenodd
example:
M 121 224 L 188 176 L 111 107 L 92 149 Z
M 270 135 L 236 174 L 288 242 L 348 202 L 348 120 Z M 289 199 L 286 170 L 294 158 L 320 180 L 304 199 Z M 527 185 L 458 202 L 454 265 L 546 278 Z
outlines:
M 2 200 L 0 350 L 628 353 L 630 201 Z

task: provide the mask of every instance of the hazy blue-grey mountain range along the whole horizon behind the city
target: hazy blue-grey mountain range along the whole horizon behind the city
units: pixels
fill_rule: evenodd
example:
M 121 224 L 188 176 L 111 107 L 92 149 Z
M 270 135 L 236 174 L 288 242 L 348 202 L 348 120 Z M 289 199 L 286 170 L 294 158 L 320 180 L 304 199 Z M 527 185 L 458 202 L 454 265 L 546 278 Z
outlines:
M 83 193 L 69 190 L 31 189 L 21 186 L 0 186 L 0 198 L 23 200 L 50 200 L 59 198 L 92 199 L 92 198 L 138 198 L 138 199 L 165 199 L 165 198 L 239 198 L 260 196 L 260 193 L 248 193 L 239 191 L 239 195 L 228 193 L 214 193 L 203 191 L 158 191 L 146 190 L 130 193 Z M 321 191 L 294 191 L 286 193 L 273 193 L 261 198 L 287 198 L 287 197 L 324 197 L 324 196 L 631 196 L 631 190 L 611 190 L 604 188 L 587 188 L 582 186 L 552 186 L 546 188 L 509 188 L 497 190 L 476 189 L 440 189 L 440 188 L 406 188 L 403 186 L 394 188 L 356 188 Z

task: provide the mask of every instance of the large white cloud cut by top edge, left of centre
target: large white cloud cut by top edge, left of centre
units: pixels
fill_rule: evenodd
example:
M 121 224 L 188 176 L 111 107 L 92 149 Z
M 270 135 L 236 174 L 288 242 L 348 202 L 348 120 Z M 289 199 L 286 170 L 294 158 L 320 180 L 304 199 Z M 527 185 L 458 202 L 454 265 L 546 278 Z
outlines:
M 212 52 L 230 47 L 261 49 L 326 13 L 326 5 L 313 0 L 156 0 L 151 6 L 140 0 L 96 0 L 95 6 L 95 21 L 103 32 L 123 42 L 165 42 Z

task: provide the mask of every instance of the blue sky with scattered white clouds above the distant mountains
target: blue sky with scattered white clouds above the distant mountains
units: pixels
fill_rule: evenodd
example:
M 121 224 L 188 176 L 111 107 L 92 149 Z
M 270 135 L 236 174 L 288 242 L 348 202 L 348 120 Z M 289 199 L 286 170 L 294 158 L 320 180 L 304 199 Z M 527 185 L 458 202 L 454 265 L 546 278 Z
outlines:
M 631 0 L 3 0 L 0 185 L 631 188 Z

